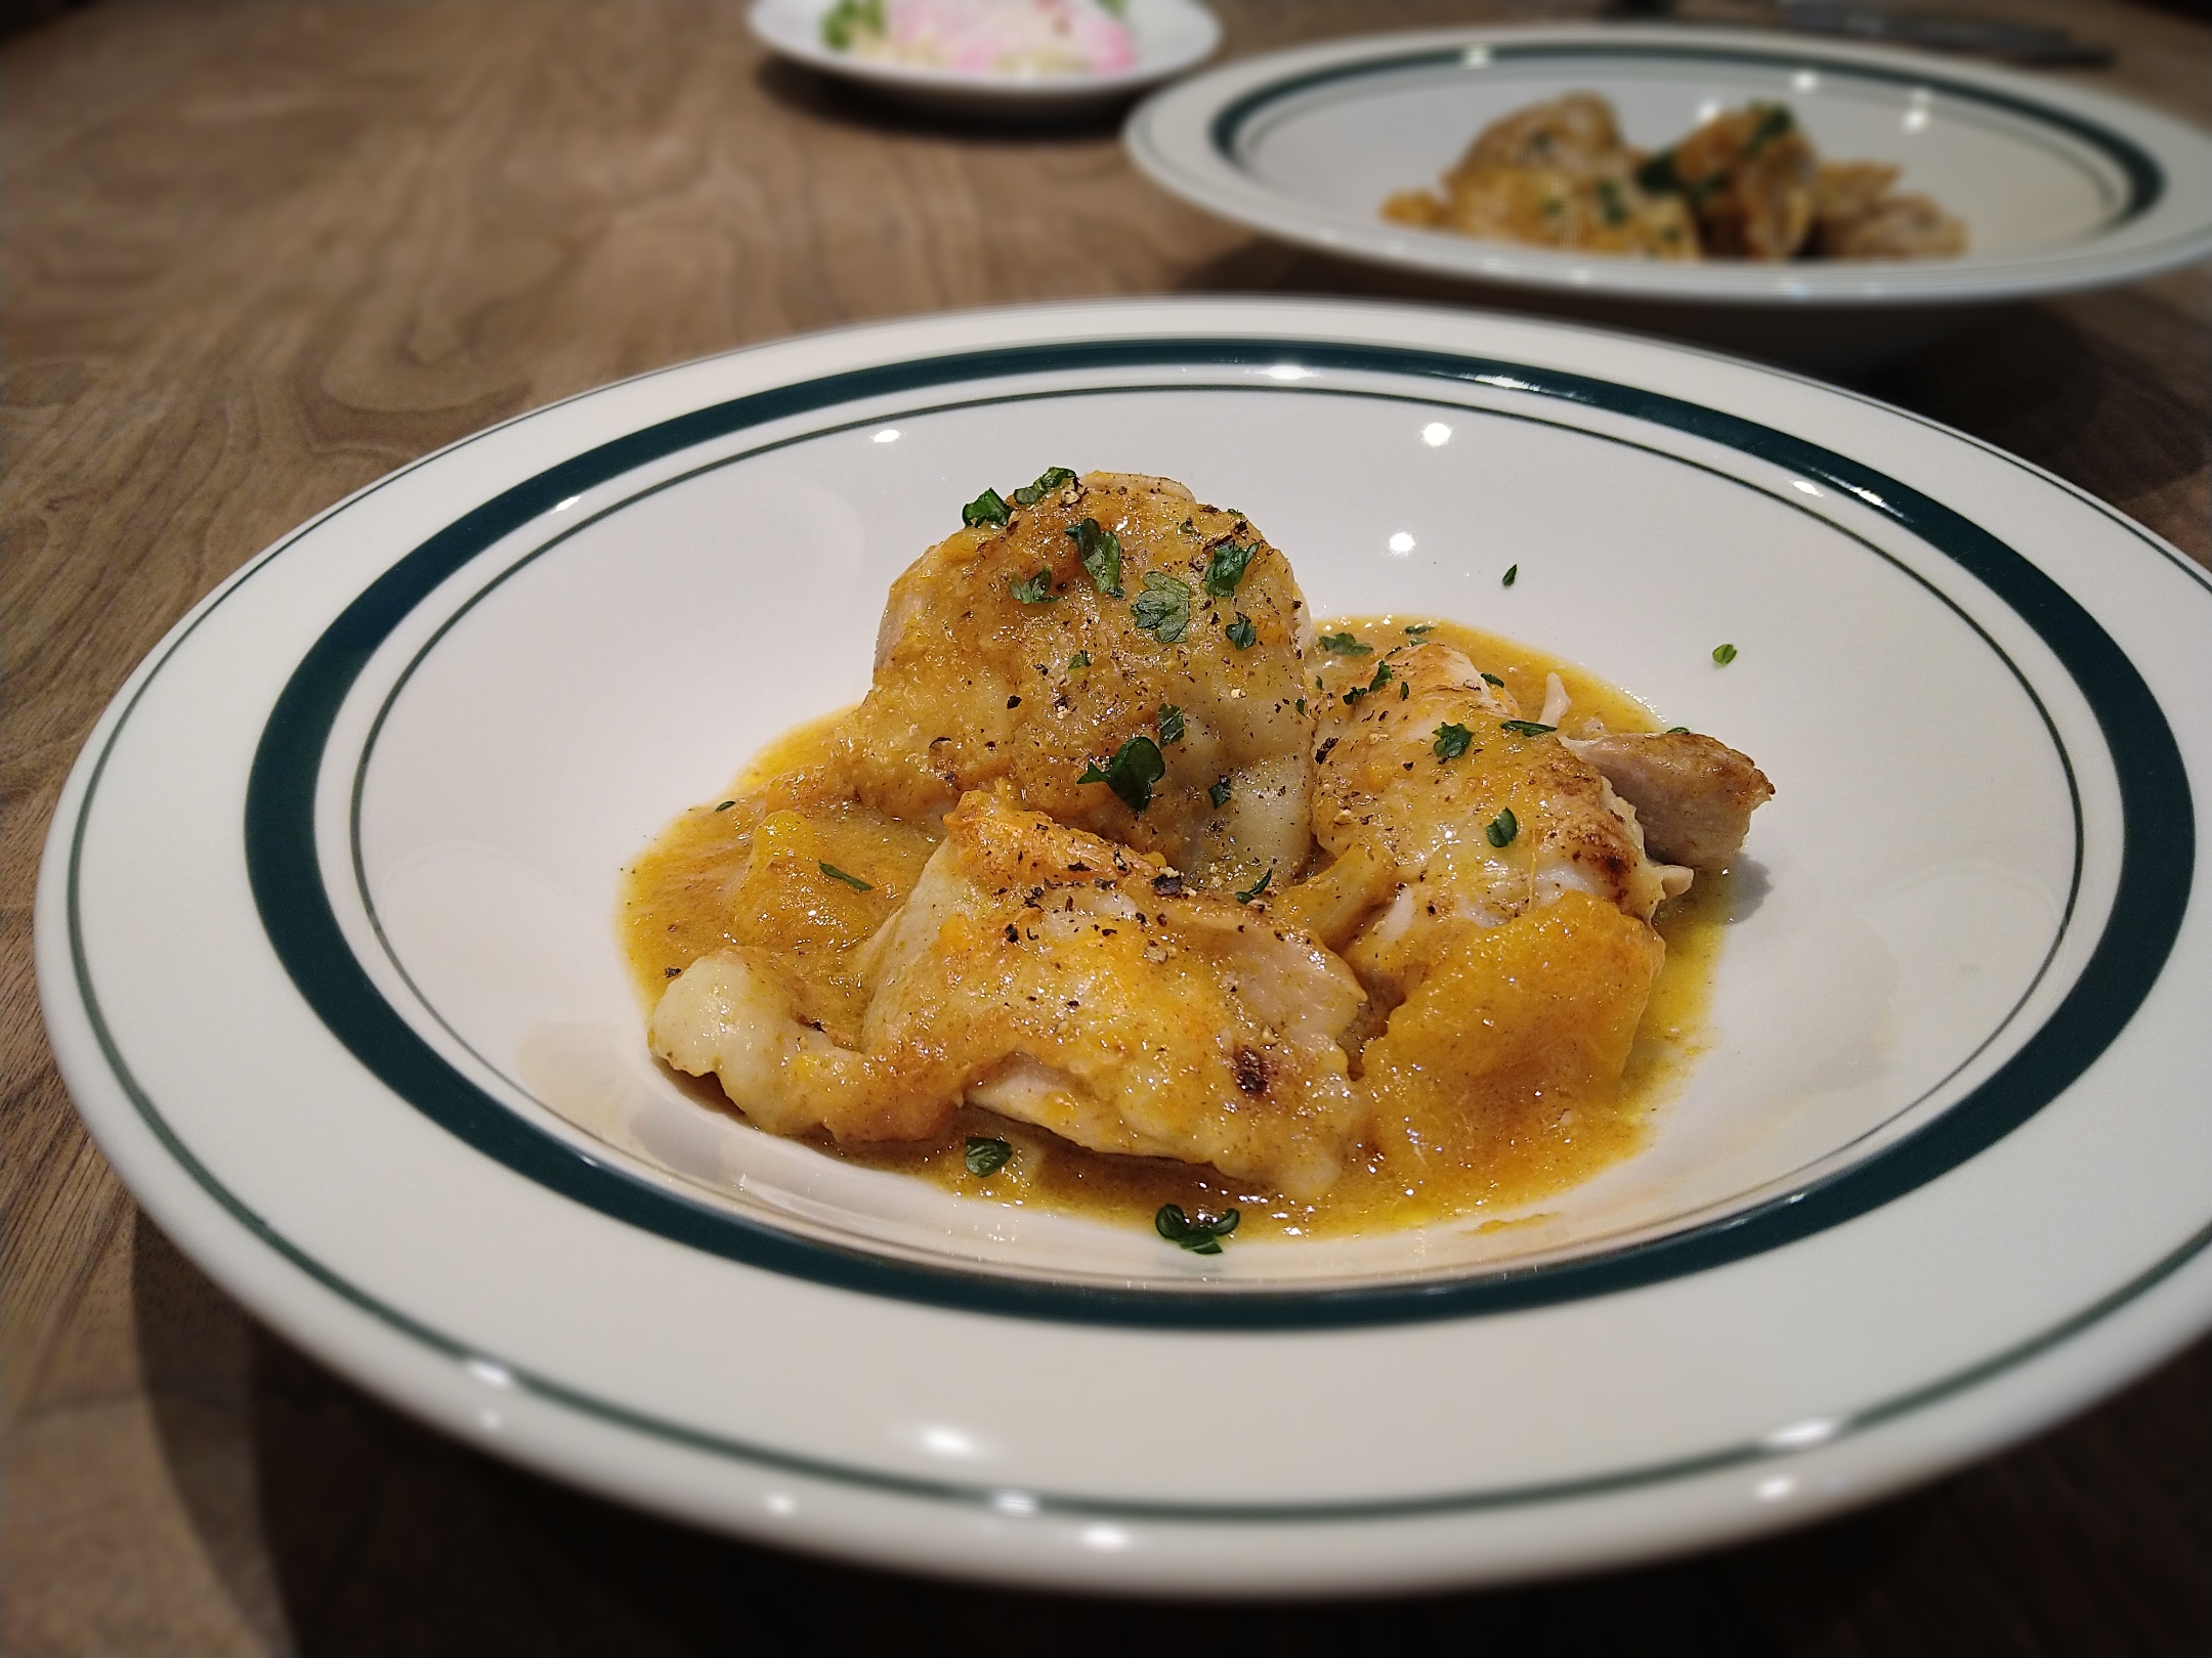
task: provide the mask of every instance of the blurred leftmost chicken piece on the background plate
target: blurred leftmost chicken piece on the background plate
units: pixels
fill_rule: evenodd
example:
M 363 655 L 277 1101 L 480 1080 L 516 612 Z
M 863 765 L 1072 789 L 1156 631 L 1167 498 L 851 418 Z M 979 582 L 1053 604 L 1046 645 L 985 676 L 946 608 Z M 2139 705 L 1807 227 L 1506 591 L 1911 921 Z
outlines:
M 1639 159 L 1606 99 L 1568 93 L 1482 128 L 1440 192 L 1400 190 L 1383 217 L 1537 248 L 1697 259 L 1688 208 L 1646 192 Z

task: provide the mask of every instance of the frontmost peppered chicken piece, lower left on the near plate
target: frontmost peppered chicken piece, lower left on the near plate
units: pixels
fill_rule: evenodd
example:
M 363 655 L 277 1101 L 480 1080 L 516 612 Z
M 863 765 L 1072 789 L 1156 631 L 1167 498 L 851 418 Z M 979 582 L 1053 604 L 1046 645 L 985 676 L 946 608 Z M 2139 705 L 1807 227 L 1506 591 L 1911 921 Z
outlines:
M 1352 973 L 1157 856 L 969 794 L 858 964 L 858 1046 L 805 1017 L 787 957 L 723 948 L 670 982 L 653 1050 L 779 1134 L 920 1138 L 962 1103 L 1095 1152 L 1325 1192 L 1365 1125 L 1338 1032 Z

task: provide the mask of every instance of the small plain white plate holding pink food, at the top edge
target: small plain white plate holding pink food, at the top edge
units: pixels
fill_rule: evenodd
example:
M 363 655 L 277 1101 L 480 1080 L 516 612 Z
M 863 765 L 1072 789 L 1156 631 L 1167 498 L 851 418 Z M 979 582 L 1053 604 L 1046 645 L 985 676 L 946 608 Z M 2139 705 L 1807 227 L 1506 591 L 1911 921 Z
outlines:
M 967 115 L 1042 115 L 1097 108 L 1203 64 L 1221 22 L 1197 0 L 1128 0 L 1137 62 L 1110 75 L 969 75 L 856 57 L 823 42 L 834 0 L 752 0 L 752 33 L 807 69 L 860 82 L 902 104 Z

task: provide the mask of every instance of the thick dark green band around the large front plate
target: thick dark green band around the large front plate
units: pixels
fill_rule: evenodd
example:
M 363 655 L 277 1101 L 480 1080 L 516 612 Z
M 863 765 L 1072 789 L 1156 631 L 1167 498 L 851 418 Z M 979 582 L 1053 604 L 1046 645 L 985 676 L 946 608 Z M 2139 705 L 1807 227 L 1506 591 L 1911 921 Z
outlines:
M 1703 1227 L 1478 1280 L 1190 1293 L 1046 1284 L 909 1265 L 792 1238 L 726 1209 L 684 1200 L 584 1156 L 507 1110 L 438 1057 L 376 993 L 347 948 L 321 884 L 314 783 L 338 705 L 369 654 L 434 586 L 502 535 L 661 455 L 858 398 L 1020 374 L 1267 367 L 1285 351 L 1312 367 L 1526 389 L 1734 447 L 1874 504 L 2013 606 L 2093 707 L 2124 807 L 2121 875 L 2110 917 L 2081 977 L 2053 1015 L 1964 1101 L 1896 1145 L 1820 1185 Z M 2192 825 L 2190 789 L 2166 716 L 2135 665 L 2088 612 L 1980 526 L 1843 455 L 1679 398 L 1489 358 L 1323 340 L 1097 340 L 922 358 L 759 391 L 626 433 L 482 502 L 372 581 L 301 659 L 254 756 L 246 853 L 261 924 L 332 1035 L 400 1099 L 458 1138 L 602 1214 L 770 1271 L 940 1307 L 1133 1326 L 1316 1329 L 1544 1307 L 1705 1271 L 1840 1225 L 1958 1167 L 2055 1099 L 2148 995 L 2181 924 L 2194 864 Z

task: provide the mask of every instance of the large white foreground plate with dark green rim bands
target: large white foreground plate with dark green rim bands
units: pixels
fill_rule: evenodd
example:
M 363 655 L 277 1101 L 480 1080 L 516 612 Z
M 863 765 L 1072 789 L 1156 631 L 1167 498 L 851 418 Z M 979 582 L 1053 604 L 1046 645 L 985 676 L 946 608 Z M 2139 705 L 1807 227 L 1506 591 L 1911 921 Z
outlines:
M 1179 475 L 1321 615 L 1498 628 L 1759 758 L 1646 1154 L 1526 1229 L 1206 1262 L 644 1059 L 622 864 L 858 696 L 889 577 L 1046 464 Z M 1893 409 L 1471 314 L 980 312 L 593 391 L 270 548 L 86 745 L 40 993 L 159 1225 L 491 1450 L 978 1576 L 1502 1578 L 1865 1501 L 2212 1318 L 2208 756 L 2205 573 Z

